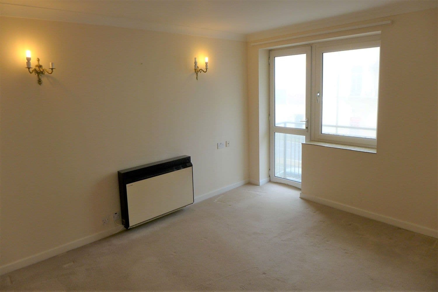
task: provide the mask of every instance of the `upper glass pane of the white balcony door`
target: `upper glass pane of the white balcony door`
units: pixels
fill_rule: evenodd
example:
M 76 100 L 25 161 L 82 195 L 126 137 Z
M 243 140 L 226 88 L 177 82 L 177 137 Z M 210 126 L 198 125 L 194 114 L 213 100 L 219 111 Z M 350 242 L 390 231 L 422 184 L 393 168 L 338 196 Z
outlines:
M 275 125 L 305 129 L 306 54 L 274 58 Z

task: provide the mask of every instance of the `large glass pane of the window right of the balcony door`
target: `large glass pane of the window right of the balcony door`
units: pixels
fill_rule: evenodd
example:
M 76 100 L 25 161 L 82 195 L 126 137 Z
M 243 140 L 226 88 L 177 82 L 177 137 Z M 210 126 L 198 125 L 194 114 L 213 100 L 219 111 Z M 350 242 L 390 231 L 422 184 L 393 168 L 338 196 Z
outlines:
M 380 48 L 323 53 L 323 134 L 376 138 Z

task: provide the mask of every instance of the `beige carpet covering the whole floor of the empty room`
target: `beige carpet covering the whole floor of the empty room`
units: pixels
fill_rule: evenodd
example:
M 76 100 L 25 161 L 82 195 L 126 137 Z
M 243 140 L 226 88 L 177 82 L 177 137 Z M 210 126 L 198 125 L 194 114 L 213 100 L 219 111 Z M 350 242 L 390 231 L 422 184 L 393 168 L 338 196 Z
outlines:
M 437 290 L 437 239 L 245 185 L 1 277 L 2 290 Z

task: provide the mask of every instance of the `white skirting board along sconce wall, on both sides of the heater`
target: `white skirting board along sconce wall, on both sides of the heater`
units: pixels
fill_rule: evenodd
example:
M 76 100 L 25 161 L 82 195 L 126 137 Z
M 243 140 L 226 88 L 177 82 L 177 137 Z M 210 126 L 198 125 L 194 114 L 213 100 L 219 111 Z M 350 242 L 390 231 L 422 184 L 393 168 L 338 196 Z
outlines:
M 237 188 L 238 186 L 243 186 L 244 184 L 246 184 L 248 182 L 249 182 L 249 179 L 245 179 L 245 180 L 242 180 L 240 182 L 233 183 L 230 186 L 225 186 L 225 187 L 220 188 L 218 190 L 214 190 L 214 191 L 212 191 L 210 193 L 206 193 L 204 195 L 195 197 L 194 198 L 194 203 L 198 203 L 200 201 L 203 201 L 205 199 L 214 197 L 214 196 L 219 195 L 221 193 L 225 193 L 226 191 L 229 191 L 229 190 L 232 190 L 234 188 Z M 66 244 L 54 247 L 54 248 L 52 248 L 50 250 L 45 250 L 45 251 L 43 251 L 41 253 L 37 253 L 37 254 L 34 254 L 32 256 L 25 257 L 25 258 L 23 258 L 21 260 L 14 261 L 14 262 L 12 262 L 10 264 L 5 264 L 4 266 L 0 267 L 0 275 L 9 273 L 11 271 L 18 270 L 18 269 L 20 269 L 22 267 L 26 267 L 26 266 L 29 266 L 31 264 L 38 263 L 39 261 L 46 260 L 46 259 L 48 259 L 50 257 L 57 256 L 57 255 L 59 255 L 61 253 L 65 253 L 65 252 L 67 252 L 69 250 L 74 250 L 75 248 L 84 246 L 84 245 L 86 245 L 88 243 L 95 242 L 95 241 L 97 241 L 99 239 L 102 239 L 102 238 L 105 238 L 105 237 L 108 237 L 108 236 L 111 236 L 111 235 L 116 234 L 117 232 L 120 232 L 122 230 L 125 230 L 125 229 L 120 227 L 120 226 L 116 226 L 114 228 L 107 229 L 107 230 L 104 230 L 104 231 L 101 231 L 101 232 L 98 232 L 98 233 L 95 233 L 95 234 L 92 234 L 92 235 L 89 235 L 89 236 L 85 236 L 85 237 L 83 237 L 81 239 L 77 239 L 77 240 L 74 240 L 72 242 L 69 242 L 69 243 L 66 243 Z

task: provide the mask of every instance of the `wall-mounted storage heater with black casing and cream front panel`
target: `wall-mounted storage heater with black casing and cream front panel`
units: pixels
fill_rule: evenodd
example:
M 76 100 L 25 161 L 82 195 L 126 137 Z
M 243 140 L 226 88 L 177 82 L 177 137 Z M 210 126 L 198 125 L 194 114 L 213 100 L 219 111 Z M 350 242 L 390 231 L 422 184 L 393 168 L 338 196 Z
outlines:
M 194 202 L 190 156 L 183 155 L 120 170 L 122 224 L 126 229 Z

